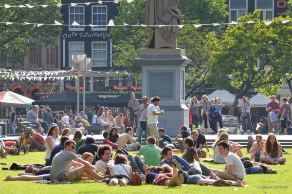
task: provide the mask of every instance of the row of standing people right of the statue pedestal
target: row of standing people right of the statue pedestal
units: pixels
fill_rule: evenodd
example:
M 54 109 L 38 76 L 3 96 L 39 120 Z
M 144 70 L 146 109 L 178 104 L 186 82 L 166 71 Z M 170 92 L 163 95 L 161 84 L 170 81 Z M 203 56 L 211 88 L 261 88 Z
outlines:
M 275 96 L 271 97 L 271 102 L 267 104 L 266 111 L 268 111 L 268 117 L 267 117 L 267 123 L 268 123 L 268 133 L 271 133 L 274 129 L 274 134 L 279 135 L 279 120 L 280 120 L 280 126 L 283 130 L 282 135 L 287 135 L 287 120 L 289 119 L 289 110 L 290 110 L 290 104 L 287 102 L 287 97 L 282 97 L 282 106 L 275 101 Z M 247 130 L 249 129 L 251 132 L 251 135 L 255 134 L 254 127 L 252 124 L 251 119 L 251 102 L 249 97 L 242 97 L 242 113 L 240 115 L 240 119 L 242 120 L 242 127 L 244 130 L 244 135 L 247 135 Z M 212 130 L 212 134 L 218 134 L 218 127 L 220 129 L 223 128 L 222 124 L 222 115 L 221 115 L 221 109 L 223 107 L 223 103 L 220 101 L 219 97 L 215 97 L 214 99 L 211 99 L 209 101 L 208 97 L 206 95 L 202 95 L 200 102 L 196 97 L 192 97 L 190 100 L 190 106 L 189 106 L 189 112 L 190 112 L 190 128 L 192 129 L 192 126 L 194 125 L 196 128 L 198 128 L 198 122 L 199 122 L 199 108 L 202 108 L 202 118 L 204 121 L 204 128 L 205 128 L 205 134 L 208 134 L 208 123 Z M 271 119 L 271 115 L 273 114 L 273 118 Z

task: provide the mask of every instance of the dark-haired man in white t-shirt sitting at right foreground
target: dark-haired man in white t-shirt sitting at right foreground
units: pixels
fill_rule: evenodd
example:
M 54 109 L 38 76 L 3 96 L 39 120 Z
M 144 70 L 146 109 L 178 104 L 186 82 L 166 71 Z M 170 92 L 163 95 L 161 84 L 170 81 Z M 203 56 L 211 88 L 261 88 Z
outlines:
M 227 141 L 220 141 L 218 144 L 220 155 L 223 155 L 226 163 L 226 171 L 218 171 L 217 176 L 224 180 L 243 180 L 246 176 L 241 160 L 232 152 L 229 152 Z

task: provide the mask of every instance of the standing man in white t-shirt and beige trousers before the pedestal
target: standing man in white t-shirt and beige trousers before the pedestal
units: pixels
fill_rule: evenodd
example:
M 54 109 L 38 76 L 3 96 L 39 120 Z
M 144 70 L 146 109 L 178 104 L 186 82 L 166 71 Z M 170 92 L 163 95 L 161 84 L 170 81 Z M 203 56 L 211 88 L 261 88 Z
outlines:
M 158 115 L 164 114 L 164 110 L 160 110 L 158 112 L 156 109 L 156 107 L 159 105 L 159 103 L 160 103 L 160 98 L 153 97 L 152 103 L 148 106 L 148 110 L 147 110 L 147 116 L 148 116 L 147 126 L 148 126 L 149 131 L 150 131 L 150 136 L 155 137 L 155 139 L 156 139 L 155 144 L 157 146 L 159 146 L 159 144 L 158 144 L 158 127 L 157 127 L 158 119 L 157 119 L 157 117 L 158 117 Z

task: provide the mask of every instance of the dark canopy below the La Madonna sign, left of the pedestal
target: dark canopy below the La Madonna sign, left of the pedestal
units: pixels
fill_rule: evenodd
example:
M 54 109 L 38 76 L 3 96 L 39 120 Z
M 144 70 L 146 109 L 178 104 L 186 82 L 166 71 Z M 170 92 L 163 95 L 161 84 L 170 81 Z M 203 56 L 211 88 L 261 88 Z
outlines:
M 136 99 L 142 99 L 142 95 L 135 94 Z M 110 100 L 100 103 L 100 106 L 109 107 L 127 107 L 128 101 L 131 99 L 130 94 L 121 95 L 119 97 L 111 98 Z M 149 100 L 149 99 L 148 99 Z

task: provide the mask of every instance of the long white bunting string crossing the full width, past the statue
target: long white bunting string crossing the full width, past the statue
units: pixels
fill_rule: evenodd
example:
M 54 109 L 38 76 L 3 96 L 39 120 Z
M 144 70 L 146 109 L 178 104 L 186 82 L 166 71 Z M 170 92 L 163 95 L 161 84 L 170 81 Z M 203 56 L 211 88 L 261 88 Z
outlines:
M 252 24 L 252 23 L 264 23 L 267 26 L 270 25 L 273 22 L 282 22 L 282 23 L 287 23 L 291 21 L 291 19 L 288 20 L 278 20 L 278 21 L 246 21 L 246 22 L 236 22 L 236 21 L 231 21 L 230 23 L 208 23 L 208 24 L 183 24 L 183 25 L 144 25 L 144 24 L 139 24 L 139 25 L 130 25 L 127 23 L 124 23 L 124 25 L 115 25 L 113 20 L 110 19 L 108 25 L 80 25 L 79 23 L 77 23 L 76 21 L 74 21 L 71 25 L 69 24 L 62 24 L 58 21 L 55 20 L 55 24 L 50 24 L 50 23 L 30 23 L 30 22 L 23 22 L 23 23 L 19 23 L 19 22 L 0 22 L 0 23 L 5 23 L 6 25 L 11 25 L 11 24 L 23 24 L 23 25 L 34 25 L 34 27 L 37 25 L 37 27 L 39 26 L 43 26 L 43 25 L 58 25 L 58 26 L 90 26 L 90 27 L 102 27 L 102 26 L 108 26 L 108 27 L 125 27 L 125 26 L 129 26 L 129 27 L 164 27 L 164 26 L 178 26 L 179 28 L 183 28 L 183 26 L 195 26 L 195 28 L 199 28 L 203 25 L 212 25 L 212 26 L 220 26 L 220 25 L 238 25 L 238 24 Z

